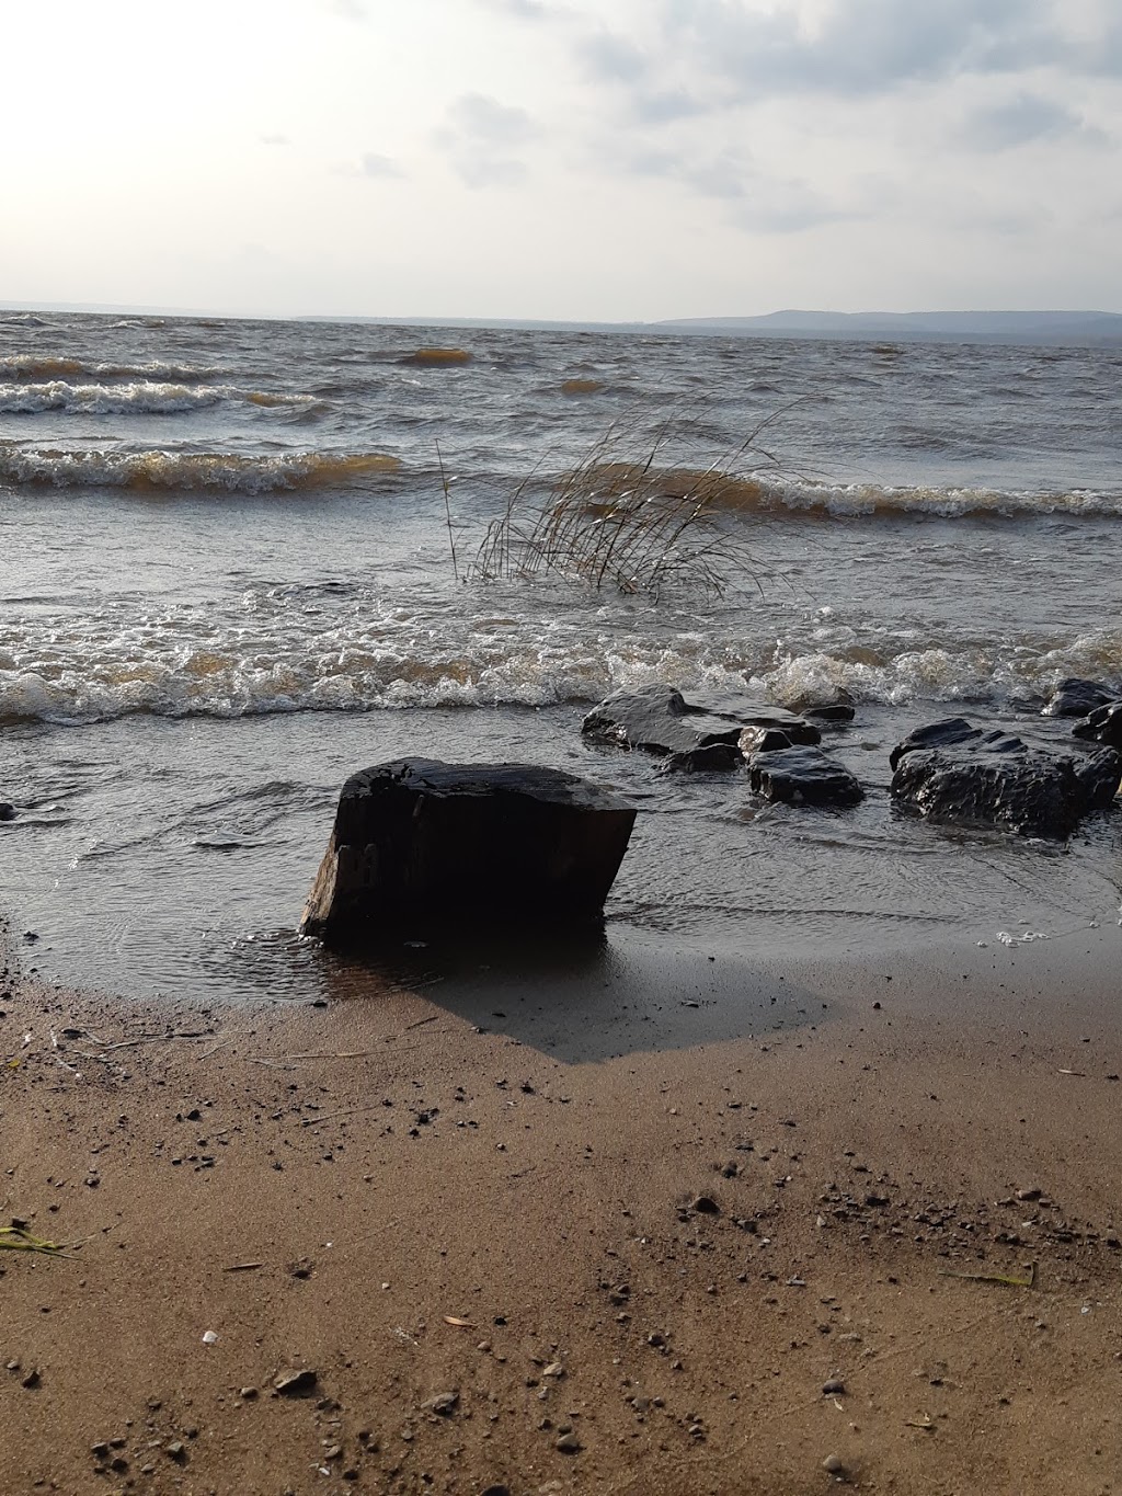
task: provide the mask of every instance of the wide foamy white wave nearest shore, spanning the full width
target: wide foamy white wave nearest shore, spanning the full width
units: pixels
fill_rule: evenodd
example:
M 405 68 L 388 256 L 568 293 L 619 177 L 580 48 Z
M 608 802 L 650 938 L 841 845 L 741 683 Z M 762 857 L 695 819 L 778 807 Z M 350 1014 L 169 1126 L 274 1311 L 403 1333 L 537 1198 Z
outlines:
M 368 603 L 325 616 L 278 601 L 257 598 L 206 634 L 193 613 L 169 613 L 130 618 L 117 637 L 106 636 L 105 619 L 58 619 L 42 633 L 0 636 L 0 721 L 542 708 L 661 682 L 687 693 L 748 690 L 784 706 L 832 702 L 839 691 L 878 706 L 1038 705 L 1070 675 L 1122 694 L 1119 628 L 1032 649 L 1023 639 L 847 642 L 844 631 L 817 648 L 793 636 L 732 643 L 678 633 L 652 640 L 603 633 L 595 619 L 546 630 L 525 619 L 500 639 L 485 625 L 452 634 L 396 625 Z

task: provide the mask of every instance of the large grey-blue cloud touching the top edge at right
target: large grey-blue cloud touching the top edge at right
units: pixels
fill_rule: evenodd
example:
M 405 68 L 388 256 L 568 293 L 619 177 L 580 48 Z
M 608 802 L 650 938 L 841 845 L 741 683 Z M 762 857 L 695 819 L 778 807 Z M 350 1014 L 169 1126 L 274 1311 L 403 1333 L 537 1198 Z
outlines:
M 664 0 L 664 34 L 744 97 L 884 94 L 960 73 L 1076 60 L 1049 0 L 833 0 L 820 24 L 742 0 Z

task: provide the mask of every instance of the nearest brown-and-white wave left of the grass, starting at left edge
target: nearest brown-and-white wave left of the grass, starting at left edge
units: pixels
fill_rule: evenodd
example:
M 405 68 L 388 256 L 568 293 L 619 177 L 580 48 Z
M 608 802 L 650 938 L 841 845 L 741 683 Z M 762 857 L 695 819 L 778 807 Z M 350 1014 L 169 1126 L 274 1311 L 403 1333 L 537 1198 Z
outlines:
M 61 452 L 0 443 L 0 483 L 52 488 L 269 494 L 350 483 L 375 473 L 396 473 L 399 468 L 401 461 L 386 452 L 241 456 L 233 452 Z

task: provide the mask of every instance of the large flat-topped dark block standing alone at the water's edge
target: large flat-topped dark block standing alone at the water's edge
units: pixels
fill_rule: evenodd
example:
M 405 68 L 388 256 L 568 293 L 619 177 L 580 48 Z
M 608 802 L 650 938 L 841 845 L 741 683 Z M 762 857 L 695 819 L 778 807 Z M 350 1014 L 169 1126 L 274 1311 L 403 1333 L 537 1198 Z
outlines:
M 561 923 L 603 910 L 634 824 L 560 769 L 398 758 L 352 775 L 301 931 L 325 939 L 449 923 Z

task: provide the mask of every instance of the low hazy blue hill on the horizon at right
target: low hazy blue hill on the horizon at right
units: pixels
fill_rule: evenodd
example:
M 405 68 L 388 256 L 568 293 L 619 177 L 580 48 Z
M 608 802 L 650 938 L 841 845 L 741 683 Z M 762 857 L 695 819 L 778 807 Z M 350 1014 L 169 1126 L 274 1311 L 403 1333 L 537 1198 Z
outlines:
M 678 317 L 648 328 L 748 338 L 1122 343 L 1122 316 L 1113 311 L 772 311 L 766 317 Z

